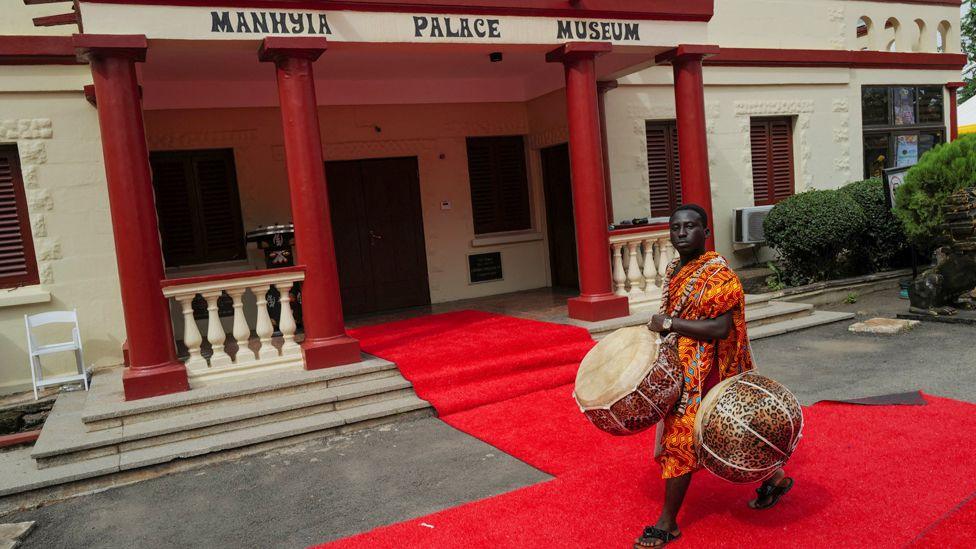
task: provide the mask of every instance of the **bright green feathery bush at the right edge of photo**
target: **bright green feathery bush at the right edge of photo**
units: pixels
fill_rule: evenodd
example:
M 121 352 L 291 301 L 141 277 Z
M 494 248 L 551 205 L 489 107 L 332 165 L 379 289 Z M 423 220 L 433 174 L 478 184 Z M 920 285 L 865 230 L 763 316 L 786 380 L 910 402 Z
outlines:
M 931 248 L 942 236 L 942 205 L 955 191 L 976 186 L 976 135 L 925 153 L 895 196 L 895 213 L 919 248 Z

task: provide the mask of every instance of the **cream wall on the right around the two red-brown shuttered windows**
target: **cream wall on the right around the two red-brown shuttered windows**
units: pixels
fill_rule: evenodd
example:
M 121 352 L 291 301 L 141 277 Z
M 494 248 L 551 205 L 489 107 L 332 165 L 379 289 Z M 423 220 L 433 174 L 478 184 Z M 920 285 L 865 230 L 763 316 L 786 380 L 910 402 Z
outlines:
M 958 76 L 952 71 L 706 68 L 709 168 L 719 252 L 739 265 L 754 261 L 751 249 L 737 250 L 731 241 L 733 209 L 754 205 L 751 117 L 794 119 L 797 192 L 836 188 L 863 175 L 862 85 L 941 85 Z M 649 215 L 644 124 L 675 118 L 671 75 L 666 68 L 643 71 L 622 79 L 621 84 L 607 95 L 617 220 Z M 948 98 L 946 104 L 948 107 Z

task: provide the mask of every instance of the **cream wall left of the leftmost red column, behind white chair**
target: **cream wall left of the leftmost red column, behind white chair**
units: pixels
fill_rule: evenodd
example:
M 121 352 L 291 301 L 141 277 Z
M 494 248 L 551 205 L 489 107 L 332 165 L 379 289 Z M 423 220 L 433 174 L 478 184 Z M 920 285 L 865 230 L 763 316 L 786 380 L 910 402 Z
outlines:
M 0 290 L 0 393 L 30 386 L 25 314 L 77 308 L 88 365 L 120 363 L 125 338 L 98 121 L 77 85 L 88 68 L 8 69 L 21 78 L 0 82 L 0 143 L 20 152 L 41 283 Z M 60 358 L 47 374 L 74 367 Z

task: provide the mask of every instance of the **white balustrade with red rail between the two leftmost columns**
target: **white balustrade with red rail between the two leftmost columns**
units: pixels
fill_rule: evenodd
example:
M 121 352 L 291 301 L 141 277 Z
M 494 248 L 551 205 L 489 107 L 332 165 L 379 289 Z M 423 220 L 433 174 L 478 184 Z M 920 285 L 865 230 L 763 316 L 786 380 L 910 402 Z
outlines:
M 191 387 L 253 371 L 302 368 L 304 359 L 295 341 L 297 326 L 289 291 L 304 279 L 302 268 L 290 267 L 164 281 L 163 295 L 178 304 L 182 313 L 182 338 L 177 338 L 186 346 L 184 363 Z M 271 288 L 280 292 L 280 337 L 272 337 L 274 327 L 266 297 Z M 224 295 L 233 305 L 229 325 L 220 316 Z M 205 335 L 194 317 L 193 300 L 197 296 L 207 303 L 207 319 L 202 323 Z

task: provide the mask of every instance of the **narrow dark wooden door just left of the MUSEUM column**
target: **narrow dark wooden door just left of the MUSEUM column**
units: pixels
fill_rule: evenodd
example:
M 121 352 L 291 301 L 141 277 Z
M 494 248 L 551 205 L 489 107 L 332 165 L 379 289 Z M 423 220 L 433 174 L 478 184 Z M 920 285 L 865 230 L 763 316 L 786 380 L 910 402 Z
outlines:
M 573 221 L 569 145 L 548 147 L 542 149 L 541 153 L 552 286 L 578 289 L 579 270 L 576 263 L 576 224 Z

